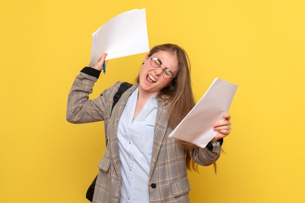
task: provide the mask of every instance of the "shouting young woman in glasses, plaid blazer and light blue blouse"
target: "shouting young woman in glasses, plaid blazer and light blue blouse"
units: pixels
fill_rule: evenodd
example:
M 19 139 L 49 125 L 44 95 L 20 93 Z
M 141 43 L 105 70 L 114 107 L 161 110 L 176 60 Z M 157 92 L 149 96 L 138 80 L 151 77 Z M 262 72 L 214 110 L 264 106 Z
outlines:
M 72 123 L 104 120 L 107 147 L 98 164 L 93 203 L 190 202 L 187 169 L 196 169 L 196 163 L 215 163 L 222 138 L 231 130 L 230 115 L 213 125 L 218 133 L 205 148 L 168 137 L 194 106 L 189 58 L 173 44 L 152 48 L 137 83 L 113 110 L 113 97 L 122 82 L 89 100 L 106 55 L 77 75 L 66 117 Z

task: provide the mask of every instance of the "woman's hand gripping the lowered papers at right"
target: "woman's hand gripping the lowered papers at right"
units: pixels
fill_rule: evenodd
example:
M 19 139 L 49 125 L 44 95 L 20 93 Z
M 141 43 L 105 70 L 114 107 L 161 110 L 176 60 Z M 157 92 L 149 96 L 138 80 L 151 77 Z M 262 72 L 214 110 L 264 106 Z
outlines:
M 210 141 L 211 143 L 217 142 L 218 139 L 228 136 L 231 132 L 231 123 L 229 121 L 231 118 L 231 115 L 224 114 L 223 118 L 225 118 L 225 120 L 222 120 L 222 121 L 219 121 L 219 122 L 216 122 L 213 124 L 213 129 L 215 131 L 218 131 L 218 133 Z

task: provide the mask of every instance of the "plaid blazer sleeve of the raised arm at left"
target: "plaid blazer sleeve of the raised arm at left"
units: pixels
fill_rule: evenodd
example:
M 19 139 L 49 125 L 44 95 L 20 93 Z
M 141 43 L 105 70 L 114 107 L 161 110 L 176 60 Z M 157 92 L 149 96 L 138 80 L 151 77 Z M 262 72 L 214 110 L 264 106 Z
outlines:
M 95 100 L 89 100 L 89 94 L 93 92 L 96 77 L 80 72 L 70 89 L 68 96 L 66 119 L 71 123 L 89 123 L 104 120 L 104 111 L 107 106 L 107 98 L 110 97 L 112 87 L 106 89 Z

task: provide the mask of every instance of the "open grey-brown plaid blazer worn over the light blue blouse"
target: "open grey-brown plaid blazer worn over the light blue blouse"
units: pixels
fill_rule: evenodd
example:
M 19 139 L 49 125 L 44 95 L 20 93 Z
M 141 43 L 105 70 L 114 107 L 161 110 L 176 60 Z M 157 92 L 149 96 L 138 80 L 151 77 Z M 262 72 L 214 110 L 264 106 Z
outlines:
M 87 123 L 104 120 L 106 152 L 98 164 L 93 203 L 118 203 L 120 198 L 120 157 L 116 136 L 117 124 L 126 101 L 138 84 L 128 89 L 115 105 L 112 115 L 114 94 L 122 82 L 106 89 L 95 100 L 89 94 L 97 78 L 80 73 L 77 75 L 68 96 L 66 119 L 71 123 Z M 111 117 L 110 117 L 111 115 Z M 169 138 L 172 132 L 168 125 L 169 104 L 160 102 L 154 125 L 152 163 L 150 169 L 149 195 L 151 203 L 189 203 L 191 190 L 185 161 L 185 151 L 176 139 Z M 219 153 L 207 148 L 195 147 L 189 151 L 198 164 L 208 166 L 214 163 Z

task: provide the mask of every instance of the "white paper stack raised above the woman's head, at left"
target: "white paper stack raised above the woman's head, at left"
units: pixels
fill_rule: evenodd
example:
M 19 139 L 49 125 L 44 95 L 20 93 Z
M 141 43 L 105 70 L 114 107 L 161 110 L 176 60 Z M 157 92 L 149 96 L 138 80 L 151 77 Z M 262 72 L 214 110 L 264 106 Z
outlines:
M 92 67 L 104 52 L 106 60 L 149 51 L 145 9 L 134 9 L 111 18 L 92 34 Z

